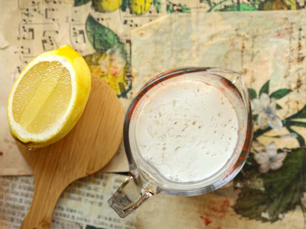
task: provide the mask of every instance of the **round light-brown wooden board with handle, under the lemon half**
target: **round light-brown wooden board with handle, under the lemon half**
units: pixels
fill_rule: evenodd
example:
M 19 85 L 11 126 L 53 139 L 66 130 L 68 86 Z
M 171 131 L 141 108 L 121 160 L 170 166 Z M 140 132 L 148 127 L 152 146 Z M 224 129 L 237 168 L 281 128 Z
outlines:
M 124 113 L 114 91 L 92 77 L 85 110 L 74 128 L 60 141 L 43 148 L 18 148 L 33 170 L 32 205 L 21 229 L 49 229 L 55 204 L 74 180 L 103 168 L 122 139 Z

